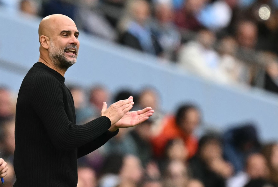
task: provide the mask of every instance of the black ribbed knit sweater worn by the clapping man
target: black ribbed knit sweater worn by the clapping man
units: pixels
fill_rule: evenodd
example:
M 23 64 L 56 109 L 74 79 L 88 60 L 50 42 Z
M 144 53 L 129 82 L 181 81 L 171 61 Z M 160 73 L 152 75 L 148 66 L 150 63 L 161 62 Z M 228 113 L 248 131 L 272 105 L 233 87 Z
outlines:
M 15 124 L 14 187 L 76 187 L 77 159 L 98 149 L 110 132 L 102 116 L 76 125 L 73 97 L 57 71 L 37 62 L 20 87 Z

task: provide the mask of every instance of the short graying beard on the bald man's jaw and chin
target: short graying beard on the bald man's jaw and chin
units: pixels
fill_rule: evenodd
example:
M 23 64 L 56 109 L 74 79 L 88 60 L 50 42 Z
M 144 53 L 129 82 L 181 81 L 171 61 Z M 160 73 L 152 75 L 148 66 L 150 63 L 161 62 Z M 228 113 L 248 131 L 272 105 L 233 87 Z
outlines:
M 67 70 L 76 62 L 76 58 L 72 60 L 66 58 L 64 54 L 66 48 L 75 48 L 77 51 L 77 47 L 75 45 L 68 45 L 67 47 L 61 49 L 53 45 L 53 42 L 50 40 L 49 57 L 58 69 Z

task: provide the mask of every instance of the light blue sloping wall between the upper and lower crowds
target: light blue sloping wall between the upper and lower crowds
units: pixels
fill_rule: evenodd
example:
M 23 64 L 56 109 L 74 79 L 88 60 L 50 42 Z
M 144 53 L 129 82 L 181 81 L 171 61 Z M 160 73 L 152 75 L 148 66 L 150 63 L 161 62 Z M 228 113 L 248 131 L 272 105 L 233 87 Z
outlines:
M 29 69 L 38 59 L 40 19 L 7 13 L 0 7 L 0 59 Z M 21 73 L 21 72 L 19 72 Z M 15 74 L 0 64 L 0 84 L 17 91 L 24 73 Z M 67 82 L 82 86 L 104 84 L 111 92 L 120 87 L 134 91 L 146 85 L 159 90 L 162 108 L 175 111 L 184 101 L 197 103 L 205 127 L 225 130 L 253 121 L 264 141 L 278 140 L 278 97 L 252 88 L 218 85 L 159 63 L 157 58 L 89 37 L 81 32 L 78 62 L 65 74 Z

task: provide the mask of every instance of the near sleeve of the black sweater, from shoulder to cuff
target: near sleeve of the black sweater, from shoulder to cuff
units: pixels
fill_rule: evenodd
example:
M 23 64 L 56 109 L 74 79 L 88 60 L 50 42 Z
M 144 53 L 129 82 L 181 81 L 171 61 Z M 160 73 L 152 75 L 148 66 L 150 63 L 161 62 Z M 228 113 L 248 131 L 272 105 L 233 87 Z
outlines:
M 105 116 L 84 125 L 70 122 L 64 110 L 62 90 L 62 84 L 54 77 L 40 76 L 40 80 L 33 81 L 32 107 L 57 149 L 80 147 L 110 128 L 111 121 Z

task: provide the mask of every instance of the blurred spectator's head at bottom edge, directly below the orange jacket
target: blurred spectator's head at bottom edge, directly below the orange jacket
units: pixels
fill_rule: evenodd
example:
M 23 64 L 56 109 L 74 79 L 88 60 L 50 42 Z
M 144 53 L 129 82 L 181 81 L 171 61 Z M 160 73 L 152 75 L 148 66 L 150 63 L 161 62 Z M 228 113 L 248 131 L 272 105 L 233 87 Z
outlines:
M 165 187 L 185 187 L 189 181 L 188 170 L 184 162 L 171 161 L 165 171 Z

